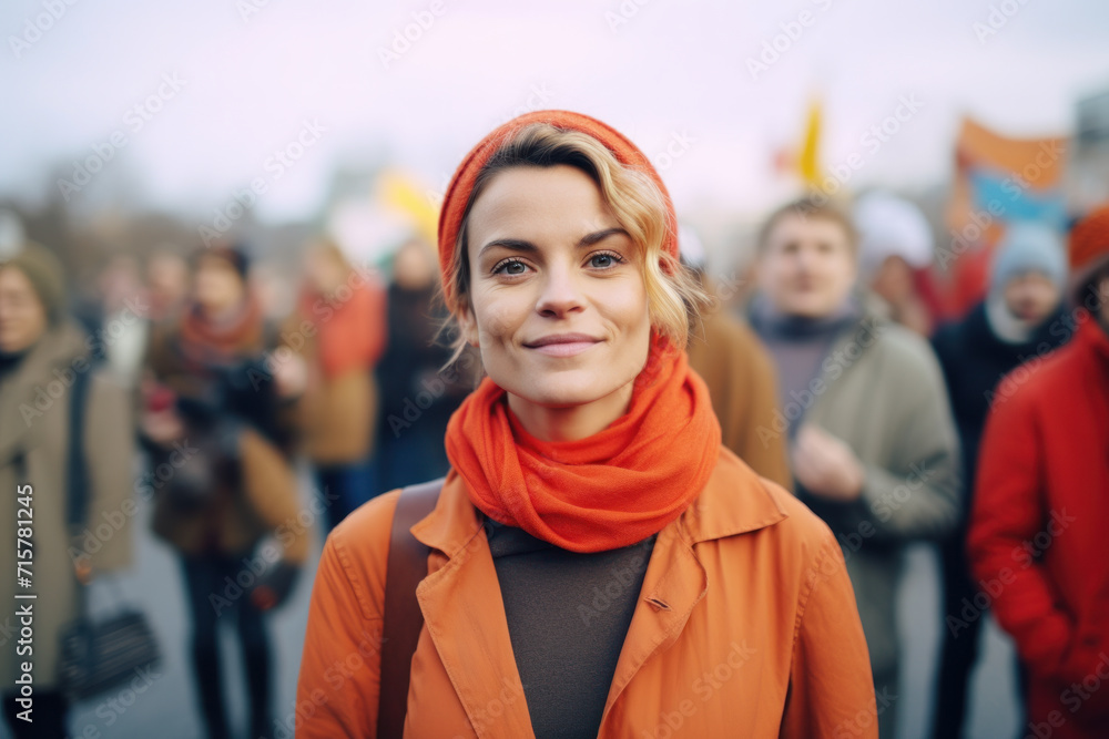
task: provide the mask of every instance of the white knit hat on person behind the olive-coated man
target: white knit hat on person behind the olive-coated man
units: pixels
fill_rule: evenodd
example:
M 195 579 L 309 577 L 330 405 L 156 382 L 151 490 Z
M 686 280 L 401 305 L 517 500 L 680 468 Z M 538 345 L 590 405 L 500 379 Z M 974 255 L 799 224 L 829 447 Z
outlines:
M 901 257 L 913 269 L 932 264 L 932 229 L 913 203 L 876 191 L 858 198 L 854 216 L 864 275 L 873 274 L 889 257 Z

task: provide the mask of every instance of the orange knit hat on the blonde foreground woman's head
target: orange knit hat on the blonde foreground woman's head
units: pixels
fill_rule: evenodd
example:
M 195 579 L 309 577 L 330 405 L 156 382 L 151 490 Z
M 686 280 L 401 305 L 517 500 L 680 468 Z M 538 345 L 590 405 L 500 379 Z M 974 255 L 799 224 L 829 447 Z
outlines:
M 667 204 L 667 226 L 669 236 L 663 245 L 674 259 L 679 258 L 678 252 L 678 219 L 674 215 L 674 206 L 670 201 L 662 178 L 647 156 L 635 144 L 631 143 L 623 134 L 615 129 L 591 119 L 581 113 L 569 111 L 536 111 L 525 113 L 515 117 L 508 123 L 498 126 L 489 135 L 481 140 L 469 154 L 458 165 L 455 176 L 450 178 L 447 186 L 447 194 L 442 199 L 442 211 L 439 213 L 439 271 L 442 277 L 442 291 L 447 306 L 451 305 L 454 286 L 450 284 L 450 276 L 455 270 L 455 260 L 459 255 L 455 254 L 455 245 L 458 240 L 458 232 L 462 226 L 462 216 L 466 205 L 469 203 L 470 193 L 478 173 L 486 162 L 513 135 L 533 123 L 548 123 L 564 131 L 579 131 L 598 140 L 611 151 L 617 161 L 625 166 L 634 167 L 651 177 L 654 184 L 662 192 L 662 197 Z

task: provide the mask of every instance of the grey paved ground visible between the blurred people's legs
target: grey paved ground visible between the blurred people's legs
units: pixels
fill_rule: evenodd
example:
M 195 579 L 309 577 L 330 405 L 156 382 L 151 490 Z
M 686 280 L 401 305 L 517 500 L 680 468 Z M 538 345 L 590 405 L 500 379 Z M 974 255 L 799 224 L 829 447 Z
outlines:
M 146 526 L 140 526 L 136 533 L 138 564 L 132 572 L 119 578 L 119 584 L 126 599 L 146 609 L 166 659 L 157 674 L 152 676 L 149 689 L 134 696 L 132 705 L 124 705 L 132 698 L 129 690 L 115 696 L 121 701 L 116 705 L 123 708 L 122 714 L 110 708 L 103 700 L 78 707 L 72 716 L 73 736 L 196 739 L 202 735 L 196 718 L 195 694 L 185 660 L 187 634 L 180 569 L 174 556 L 150 535 Z M 319 546 L 321 542 L 317 541 L 308 572 L 315 572 Z M 930 551 L 925 547 L 915 548 L 909 555 L 908 568 L 909 574 L 901 594 L 906 659 L 902 678 L 905 688 L 898 696 L 903 719 L 898 739 L 923 739 L 930 719 L 935 653 L 942 627 L 936 605 L 936 565 Z M 275 706 L 278 718 L 289 721 L 311 585 L 311 578 L 303 577 L 291 602 L 271 623 L 276 651 Z M 103 588 L 102 592 L 94 593 L 94 597 L 101 596 L 99 599 L 108 601 L 104 596 L 111 592 Z M 225 682 L 233 689 L 231 710 L 238 727 L 236 736 L 245 737 L 246 699 L 241 685 L 241 665 L 230 634 L 225 636 Z M 986 645 L 986 659 L 974 681 L 969 736 L 975 739 L 1014 739 L 1017 736 L 1017 716 L 1010 673 L 1011 648 L 1007 638 L 993 624 L 989 626 Z M 3 733 L 4 729 L 0 729 L 0 735 Z M 292 732 L 278 732 L 276 736 L 291 737 Z

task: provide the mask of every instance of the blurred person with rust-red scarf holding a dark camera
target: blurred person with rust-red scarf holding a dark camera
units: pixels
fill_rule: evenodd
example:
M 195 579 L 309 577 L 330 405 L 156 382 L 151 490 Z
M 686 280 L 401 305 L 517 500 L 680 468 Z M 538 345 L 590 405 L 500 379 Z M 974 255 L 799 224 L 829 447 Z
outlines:
M 267 736 L 272 659 L 263 613 L 291 592 L 309 543 L 289 460 L 304 365 L 276 347 L 247 288 L 247 267 L 240 246 L 195 257 L 190 305 L 152 336 L 140 423 L 157 472 L 154 532 L 184 569 L 196 688 L 212 739 L 230 736 L 217 628 L 231 612 L 251 736 Z M 279 553 L 258 546 L 266 536 Z

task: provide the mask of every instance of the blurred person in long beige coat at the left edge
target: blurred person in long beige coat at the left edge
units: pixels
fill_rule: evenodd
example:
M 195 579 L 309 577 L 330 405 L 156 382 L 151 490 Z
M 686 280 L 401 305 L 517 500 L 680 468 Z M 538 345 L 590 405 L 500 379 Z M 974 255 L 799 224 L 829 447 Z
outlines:
M 126 392 L 88 357 L 88 337 L 62 310 L 62 268 L 53 254 L 27 244 L 0 261 L 0 689 L 16 737 L 64 737 L 68 700 L 59 685 L 59 637 L 80 614 L 82 581 L 131 562 L 130 497 L 133 433 Z M 67 458 L 74 440 L 71 388 L 92 372 L 84 398 L 81 440 L 89 478 L 88 515 L 70 530 Z M 17 494 L 18 491 L 18 494 Z M 30 585 L 17 579 L 17 520 L 29 499 L 33 544 Z M 17 599 L 17 594 L 37 598 Z M 33 642 L 17 604 L 31 604 Z M 17 651 L 17 647 L 22 647 Z M 31 651 L 27 653 L 26 648 Z M 31 704 L 17 702 L 13 688 L 22 663 L 32 664 Z M 18 717 L 31 708 L 28 722 Z M 24 716 L 27 716 L 24 714 Z

